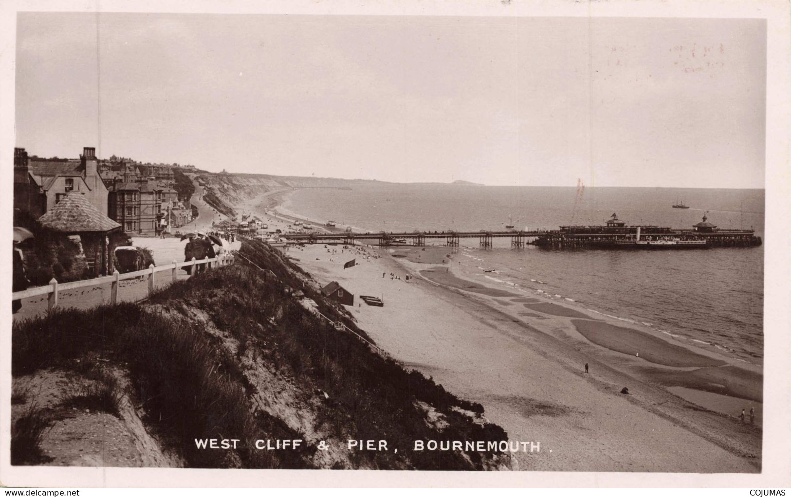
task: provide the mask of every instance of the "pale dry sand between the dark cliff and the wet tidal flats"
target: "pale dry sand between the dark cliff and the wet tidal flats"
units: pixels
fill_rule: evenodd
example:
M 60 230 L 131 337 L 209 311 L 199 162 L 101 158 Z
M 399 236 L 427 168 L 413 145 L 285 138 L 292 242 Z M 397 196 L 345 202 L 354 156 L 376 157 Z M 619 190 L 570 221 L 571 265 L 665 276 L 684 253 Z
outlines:
M 392 258 L 387 250 L 338 249 L 327 253 L 314 245 L 288 253 L 320 284 L 339 281 L 355 296 L 384 299 L 384 307 L 358 300 L 347 307 L 377 345 L 460 397 L 481 402 L 509 439 L 539 441 L 539 453 L 516 454 L 520 469 L 758 471 L 755 458 L 746 457 L 760 454 L 757 428 L 691 409 L 649 382 L 650 375 L 630 375 L 624 366 L 645 360 L 583 341 L 570 318 L 520 316 L 519 306 L 495 307 L 486 288 L 467 292 L 471 282 L 443 280 L 453 284 L 446 286 L 429 279 L 456 278 L 452 269 L 425 273 L 422 263 Z M 421 258 L 429 250 L 446 249 L 427 248 Z M 352 257 L 358 265 L 343 269 Z M 407 274 L 414 278 L 404 279 Z M 565 337 L 539 326 L 564 329 Z M 623 386 L 630 395 L 619 393 Z

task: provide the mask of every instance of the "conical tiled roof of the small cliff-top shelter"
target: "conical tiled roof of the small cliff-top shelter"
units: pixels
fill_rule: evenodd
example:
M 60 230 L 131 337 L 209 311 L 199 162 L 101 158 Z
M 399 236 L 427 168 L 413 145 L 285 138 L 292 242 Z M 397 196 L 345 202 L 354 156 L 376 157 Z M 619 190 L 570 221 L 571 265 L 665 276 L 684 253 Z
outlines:
M 55 204 L 44 216 L 39 218 L 39 224 L 55 232 L 108 232 L 121 225 L 99 212 L 85 195 L 70 192 Z

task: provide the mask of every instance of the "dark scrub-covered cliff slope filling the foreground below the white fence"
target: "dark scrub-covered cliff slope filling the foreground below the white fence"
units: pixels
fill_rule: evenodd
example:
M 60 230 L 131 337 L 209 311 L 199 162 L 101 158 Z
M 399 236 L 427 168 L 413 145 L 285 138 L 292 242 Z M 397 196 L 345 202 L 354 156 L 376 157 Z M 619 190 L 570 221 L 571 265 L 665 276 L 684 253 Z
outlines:
M 147 303 L 15 324 L 15 464 L 510 467 L 499 452 L 413 450 L 415 440 L 507 435 L 486 423 L 480 405 L 329 326 L 316 311 L 365 335 L 282 254 L 259 242 L 241 253 Z M 296 289 L 304 296 L 292 296 Z M 212 449 L 196 439 L 238 442 Z M 301 443 L 262 448 L 277 440 Z M 387 448 L 350 450 L 349 440 Z

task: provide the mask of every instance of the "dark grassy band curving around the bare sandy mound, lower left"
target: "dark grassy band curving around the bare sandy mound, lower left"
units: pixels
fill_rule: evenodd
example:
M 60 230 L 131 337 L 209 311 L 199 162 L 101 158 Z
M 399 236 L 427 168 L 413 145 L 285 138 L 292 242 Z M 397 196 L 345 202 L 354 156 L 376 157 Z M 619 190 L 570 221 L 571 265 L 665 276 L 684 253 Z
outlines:
M 56 310 L 13 325 L 13 377 L 48 367 L 79 371 L 80 361 L 88 357 L 127 367 L 134 397 L 146 412 L 144 422 L 169 441 L 187 465 L 305 468 L 304 452 L 273 454 L 253 448 L 252 440 L 261 437 L 301 435 L 267 413 L 252 413 L 246 378 L 210 333 L 195 323 L 121 303 L 87 311 Z M 102 394 L 112 398 L 112 392 Z M 12 454 L 35 456 L 46 427 L 42 416 L 20 425 Z M 200 450 L 195 438 L 238 438 L 244 446 L 235 451 Z

